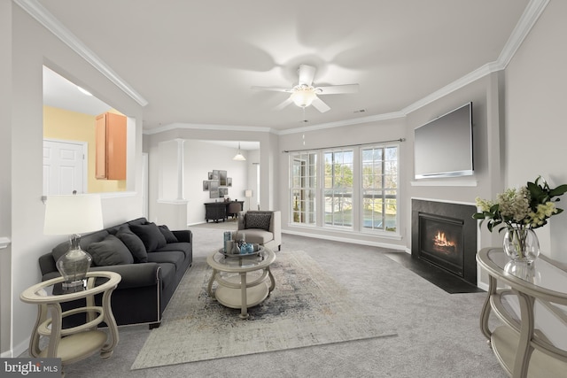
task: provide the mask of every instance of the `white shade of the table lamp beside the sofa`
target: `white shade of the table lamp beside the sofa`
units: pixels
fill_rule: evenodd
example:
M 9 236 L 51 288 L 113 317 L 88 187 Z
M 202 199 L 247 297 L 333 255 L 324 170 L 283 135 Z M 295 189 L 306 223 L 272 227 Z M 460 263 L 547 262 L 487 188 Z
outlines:
M 103 228 L 103 212 L 99 196 L 74 195 L 47 198 L 43 234 L 82 234 L 101 228 Z

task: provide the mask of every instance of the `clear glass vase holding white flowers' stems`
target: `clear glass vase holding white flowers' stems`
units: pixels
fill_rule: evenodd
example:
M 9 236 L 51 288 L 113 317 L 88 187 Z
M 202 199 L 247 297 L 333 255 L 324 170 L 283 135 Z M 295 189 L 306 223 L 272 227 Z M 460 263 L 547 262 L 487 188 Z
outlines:
M 515 261 L 532 264 L 540 256 L 540 241 L 532 228 L 507 228 L 504 251 Z

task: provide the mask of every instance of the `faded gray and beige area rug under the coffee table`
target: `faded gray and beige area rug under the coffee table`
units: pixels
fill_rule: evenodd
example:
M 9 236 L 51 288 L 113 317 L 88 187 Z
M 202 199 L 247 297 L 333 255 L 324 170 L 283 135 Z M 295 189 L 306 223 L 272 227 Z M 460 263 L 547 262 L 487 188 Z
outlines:
M 208 296 L 212 270 L 194 261 L 131 368 L 397 336 L 380 309 L 354 301 L 306 252 L 277 252 L 271 270 L 276 289 L 242 320 Z

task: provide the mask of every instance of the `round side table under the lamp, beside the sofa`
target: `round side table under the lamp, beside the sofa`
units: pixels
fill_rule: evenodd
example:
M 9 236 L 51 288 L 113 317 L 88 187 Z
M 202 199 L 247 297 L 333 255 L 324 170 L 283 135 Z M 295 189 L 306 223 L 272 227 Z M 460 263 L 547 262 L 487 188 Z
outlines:
M 89 272 L 87 287 L 82 291 L 58 292 L 63 277 L 40 282 L 24 290 L 19 298 L 25 303 L 38 305 L 37 320 L 29 341 L 29 354 L 35 358 L 59 358 L 61 366 L 86 359 L 97 351 L 100 351 L 102 359 L 109 359 L 119 341 L 110 299 L 121 279 L 120 274 L 113 272 Z M 94 296 L 99 293 L 103 294 L 102 306 L 95 305 Z M 82 298 L 86 300 L 85 307 L 66 312 L 61 310 L 61 303 Z M 84 324 L 73 328 L 62 327 L 63 318 L 82 312 L 86 313 Z M 97 329 L 97 325 L 103 321 L 108 326 L 109 336 Z M 40 336 L 48 336 L 50 339 L 43 350 L 40 349 Z

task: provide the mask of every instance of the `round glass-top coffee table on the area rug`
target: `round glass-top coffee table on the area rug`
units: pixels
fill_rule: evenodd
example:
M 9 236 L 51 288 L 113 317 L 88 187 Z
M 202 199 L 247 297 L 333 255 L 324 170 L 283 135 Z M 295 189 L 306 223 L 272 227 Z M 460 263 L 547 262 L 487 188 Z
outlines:
M 248 308 L 259 305 L 276 287 L 269 266 L 276 254 L 268 248 L 249 255 L 225 255 L 215 251 L 206 258 L 213 268 L 208 293 L 221 305 L 240 309 L 240 318 L 249 317 Z M 269 281 L 269 284 L 268 284 Z M 217 287 L 213 292 L 213 283 Z

